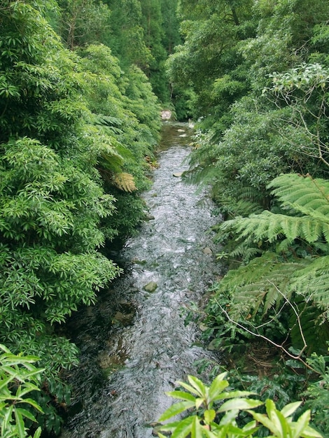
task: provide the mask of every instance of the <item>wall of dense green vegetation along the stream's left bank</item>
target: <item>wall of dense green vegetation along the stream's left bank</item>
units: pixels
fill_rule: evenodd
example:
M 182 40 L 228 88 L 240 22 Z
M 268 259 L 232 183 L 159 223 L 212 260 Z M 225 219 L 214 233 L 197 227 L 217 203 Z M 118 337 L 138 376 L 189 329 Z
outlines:
M 111 13 L 98 1 L 0 5 L 0 341 L 38 356 L 38 421 L 56 433 L 78 354 L 57 329 L 120 274 L 106 255 L 144 218 L 159 139 L 147 57 L 136 62 L 151 56 L 143 28 L 137 58 L 116 57 Z

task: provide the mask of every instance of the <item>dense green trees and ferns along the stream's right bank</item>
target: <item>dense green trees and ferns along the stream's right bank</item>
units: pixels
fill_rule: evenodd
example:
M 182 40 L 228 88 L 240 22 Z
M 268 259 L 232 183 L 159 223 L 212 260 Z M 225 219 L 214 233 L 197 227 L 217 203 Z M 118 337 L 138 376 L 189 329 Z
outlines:
M 227 353 L 234 386 L 279 409 L 306 397 L 327 436 L 328 2 L 180 5 L 184 43 L 167 68 L 200 118 L 186 178 L 211 186 L 228 267 L 204 339 Z

